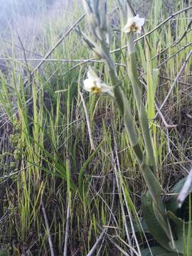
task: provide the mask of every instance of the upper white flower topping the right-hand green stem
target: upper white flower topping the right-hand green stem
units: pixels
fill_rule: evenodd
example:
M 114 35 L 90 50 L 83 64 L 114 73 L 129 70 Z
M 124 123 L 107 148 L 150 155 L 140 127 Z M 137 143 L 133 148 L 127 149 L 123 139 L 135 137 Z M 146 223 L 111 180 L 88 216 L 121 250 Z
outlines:
M 127 19 L 127 24 L 123 28 L 124 33 L 137 32 L 141 33 L 144 25 L 144 18 L 139 18 L 139 15 Z

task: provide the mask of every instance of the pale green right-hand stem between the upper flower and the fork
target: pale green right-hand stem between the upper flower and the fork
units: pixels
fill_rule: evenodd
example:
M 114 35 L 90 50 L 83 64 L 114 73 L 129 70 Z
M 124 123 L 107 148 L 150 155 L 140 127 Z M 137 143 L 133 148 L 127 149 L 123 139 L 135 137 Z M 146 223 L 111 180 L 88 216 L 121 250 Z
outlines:
M 139 114 L 139 121 L 142 127 L 142 134 L 144 137 L 144 144 L 146 149 L 146 164 L 148 164 L 152 170 L 155 169 L 155 159 L 154 159 L 154 149 L 151 143 L 151 137 L 149 132 L 149 122 L 142 102 L 142 86 L 140 85 L 138 73 L 137 73 L 137 61 L 134 48 L 134 33 L 129 34 L 128 39 L 128 63 L 127 70 L 129 78 L 132 82 L 132 87 L 134 91 L 134 98 L 137 105 L 137 111 Z

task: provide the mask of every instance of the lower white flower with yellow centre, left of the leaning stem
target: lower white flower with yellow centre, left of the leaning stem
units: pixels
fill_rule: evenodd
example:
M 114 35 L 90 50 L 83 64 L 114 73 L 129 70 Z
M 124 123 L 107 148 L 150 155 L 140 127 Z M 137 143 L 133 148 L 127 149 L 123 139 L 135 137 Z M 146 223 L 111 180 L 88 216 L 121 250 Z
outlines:
M 85 79 L 83 83 L 84 89 L 87 90 L 87 92 L 95 94 L 100 92 L 110 92 L 110 90 L 112 90 L 112 87 L 102 82 L 91 68 L 87 72 L 87 79 Z

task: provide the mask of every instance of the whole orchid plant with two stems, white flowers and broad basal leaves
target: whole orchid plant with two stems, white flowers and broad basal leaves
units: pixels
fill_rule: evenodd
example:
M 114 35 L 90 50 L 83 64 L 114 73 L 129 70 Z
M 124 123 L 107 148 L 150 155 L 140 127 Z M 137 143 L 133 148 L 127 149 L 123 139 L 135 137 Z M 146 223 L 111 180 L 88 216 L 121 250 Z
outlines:
M 151 142 L 149 132 L 149 121 L 146 114 L 146 109 L 142 101 L 142 85 L 139 81 L 137 72 L 136 48 L 134 46 L 134 38 L 137 33 L 141 33 L 144 26 L 144 18 L 139 18 L 139 15 L 132 13 L 129 4 L 127 4 L 127 23 L 124 24 L 122 31 L 127 36 L 127 73 L 132 82 L 132 90 L 134 99 L 137 105 L 139 116 L 139 124 L 142 128 L 142 139 L 144 142 L 145 151 L 142 150 L 139 144 L 139 136 L 135 127 L 135 120 L 132 117 L 132 110 L 129 106 L 129 101 L 124 94 L 121 82 L 117 76 L 117 70 L 114 60 L 110 55 L 110 22 L 107 17 L 107 4 L 104 0 L 82 0 L 85 12 L 90 23 L 94 41 L 80 30 L 80 36 L 83 38 L 87 46 L 91 48 L 93 53 L 103 60 L 107 65 L 110 75 L 111 85 L 106 85 L 105 82 L 96 75 L 90 68 L 87 72 L 87 79 L 84 80 L 84 89 L 88 92 L 97 94 L 107 92 L 113 95 L 117 102 L 117 107 L 122 115 L 124 127 L 129 137 L 129 143 L 132 146 L 138 164 L 142 171 L 142 175 L 146 182 L 148 191 L 142 195 L 142 209 L 146 225 L 151 235 L 154 236 L 161 247 L 155 247 L 142 250 L 142 255 L 183 255 L 183 239 L 188 239 L 191 243 L 191 234 L 186 235 L 191 228 L 191 222 L 185 223 L 181 218 L 176 216 L 178 203 L 176 198 L 169 198 L 164 202 L 162 194 L 164 191 L 156 176 L 156 161 L 154 157 L 153 144 Z M 124 15 L 124 9 L 122 15 Z M 126 18 L 124 18 L 125 20 Z M 174 187 L 174 191 L 178 193 L 181 190 L 183 181 Z M 160 253 L 161 252 L 161 253 Z M 159 253 L 159 254 L 158 254 Z

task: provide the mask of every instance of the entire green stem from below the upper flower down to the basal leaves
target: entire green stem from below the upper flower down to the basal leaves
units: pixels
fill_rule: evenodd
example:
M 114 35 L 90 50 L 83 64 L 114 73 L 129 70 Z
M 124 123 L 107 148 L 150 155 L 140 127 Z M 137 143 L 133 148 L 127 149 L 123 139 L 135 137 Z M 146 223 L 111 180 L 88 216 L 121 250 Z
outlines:
M 169 225 L 167 223 L 167 215 L 164 207 L 164 203 L 161 199 L 162 188 L 159 184 L 154 173 L 151 171 L 155 169 L 155 159 L 154 159 L 154 150 L 151 143 L 151 137 L 149 133 L 149 122 L 146 115 L 145 107 L 142 102 L 142 86 L 139 82 L 139 76 L 137 73 L 137 61 L 136 61 L 136 53 L 134 48 L 134 33 L 130 33 L 128 40 L 128 51 L 129 58 L 127 63 L 127 69 L 129 73 L 129 78 L 132 82 L 132 87 L 134 91 L 134 98 L 137 105 L 137 111 L 139 114 L 139 121 L 142 127 L 142 134 L 144 138 L 144 144 L 146 148 L 146 164 L 141 164 L 142 174 L 144 176 L 144 180 L 146 181 L 146 186 L 151 193 L 151 198 L 154 203 L 154 214 L 156 215 L 157 220 L 161 227 L 164 229 L 169 238 L 171 238 Z

